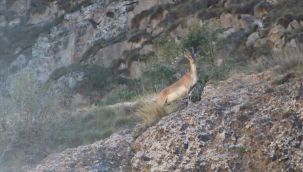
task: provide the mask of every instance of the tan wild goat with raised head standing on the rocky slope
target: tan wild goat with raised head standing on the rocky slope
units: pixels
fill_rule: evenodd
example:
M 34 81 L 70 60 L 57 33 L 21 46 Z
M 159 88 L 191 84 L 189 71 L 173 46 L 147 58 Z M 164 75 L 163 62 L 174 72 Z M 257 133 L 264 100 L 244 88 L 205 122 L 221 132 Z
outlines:
M 195 64 L 195 56 L 193 53 L 186 51 L 185 58 L 189 62 L 189 71 L 182 76 L 181 79 L 172 85 L 163 89 L 156 95 L 156 103 L 160 106 L 169 104 L 175 100 L 182 98 L 185 95 L 189 96 L 191 88 L 197 83 L 197 69 Z

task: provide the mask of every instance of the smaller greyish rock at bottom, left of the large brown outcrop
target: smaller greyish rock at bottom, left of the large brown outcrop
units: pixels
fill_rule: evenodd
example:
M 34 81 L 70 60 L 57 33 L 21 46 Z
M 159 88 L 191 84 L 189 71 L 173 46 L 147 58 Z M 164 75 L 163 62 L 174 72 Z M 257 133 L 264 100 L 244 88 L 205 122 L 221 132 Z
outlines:
M 131 141 L 126 133 L 114 134 L 103 141 L 50 155 L 30 171 L 131 171 Z

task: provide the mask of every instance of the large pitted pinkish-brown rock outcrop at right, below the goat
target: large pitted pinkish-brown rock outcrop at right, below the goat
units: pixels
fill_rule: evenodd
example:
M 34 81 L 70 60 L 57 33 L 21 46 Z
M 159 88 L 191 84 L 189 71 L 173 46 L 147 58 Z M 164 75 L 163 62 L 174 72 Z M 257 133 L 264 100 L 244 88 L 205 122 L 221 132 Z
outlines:
M 199 103 L 164 117 L 132 143 L 133 169 L 286 171 L 292 164 L 301 171 L 303 109 L 294 97 L 302 77 L 281 85 L 281 95 L 276 88 L 266 92 L 272 76 L 236 75 L 208 84 Z M 286 107 L 294 112 L 289 118 L 281 113 Z

